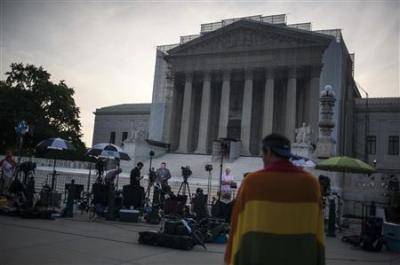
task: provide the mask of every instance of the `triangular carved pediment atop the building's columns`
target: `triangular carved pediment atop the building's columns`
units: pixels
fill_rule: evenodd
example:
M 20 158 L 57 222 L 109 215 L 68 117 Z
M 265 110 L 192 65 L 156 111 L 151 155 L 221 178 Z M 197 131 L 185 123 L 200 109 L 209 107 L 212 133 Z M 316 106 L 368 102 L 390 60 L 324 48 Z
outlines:
M 240 20 L 168 51 L 170 56 L 327 46 L 332 40 L 304 30 Z

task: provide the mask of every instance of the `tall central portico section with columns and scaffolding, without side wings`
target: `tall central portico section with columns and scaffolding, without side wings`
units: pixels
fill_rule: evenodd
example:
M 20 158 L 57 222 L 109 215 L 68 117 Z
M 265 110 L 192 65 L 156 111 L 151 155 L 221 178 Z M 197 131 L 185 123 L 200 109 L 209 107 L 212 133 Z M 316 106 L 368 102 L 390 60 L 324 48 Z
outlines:
M 231 138 L 241 142 L 241 155 L 256 156 L 265 135 L 294 140 L 306 123 L 316 144 L 319 95 L 331 85 L 335 150 L 351 152 L 345 110 L 360 97 L 352 56 L 340 30 L 307 25 L 287 25 L 284 15 L 223 20 L 158 47 L 149 139 L 172 152 L 210 154 L 214 140 Z

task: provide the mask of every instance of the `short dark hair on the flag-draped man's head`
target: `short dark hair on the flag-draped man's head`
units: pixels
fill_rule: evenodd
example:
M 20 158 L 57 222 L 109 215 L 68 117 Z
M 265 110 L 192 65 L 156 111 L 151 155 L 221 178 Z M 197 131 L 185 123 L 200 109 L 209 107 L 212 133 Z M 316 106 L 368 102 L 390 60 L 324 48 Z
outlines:
M 292 156 L 290 153 L 290 140 L 278 133 L 272 133 L 262 140 L 262 150 L 266 153 L 268 150 L 279 157 L 288 159 Z

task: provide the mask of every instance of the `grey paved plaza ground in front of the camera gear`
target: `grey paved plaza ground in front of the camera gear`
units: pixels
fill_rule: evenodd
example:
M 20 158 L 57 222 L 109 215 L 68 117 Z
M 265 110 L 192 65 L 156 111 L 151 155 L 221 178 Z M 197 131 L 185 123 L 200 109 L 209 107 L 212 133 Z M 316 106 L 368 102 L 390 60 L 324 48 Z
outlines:
M 223 264 L 225 245 L 192 251 L 139 245 L 138 232 L 158 226 L 86 218 L 30 220 L 0 216 L 0 264 Z M 397 265 L 400 254 L 365 252 L 327 238 L 329 265 Z

